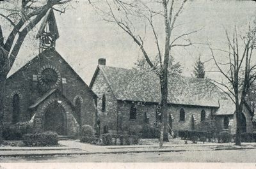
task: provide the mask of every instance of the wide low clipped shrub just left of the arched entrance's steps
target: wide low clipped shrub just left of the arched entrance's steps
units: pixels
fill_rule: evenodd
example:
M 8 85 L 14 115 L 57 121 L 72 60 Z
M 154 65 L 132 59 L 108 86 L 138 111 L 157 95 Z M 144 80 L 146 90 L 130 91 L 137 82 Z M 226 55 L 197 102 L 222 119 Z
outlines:
M 22 142 L 27 146 L 58 145 L 58 134 L 52 131 L 26 134 L 22 137 Z

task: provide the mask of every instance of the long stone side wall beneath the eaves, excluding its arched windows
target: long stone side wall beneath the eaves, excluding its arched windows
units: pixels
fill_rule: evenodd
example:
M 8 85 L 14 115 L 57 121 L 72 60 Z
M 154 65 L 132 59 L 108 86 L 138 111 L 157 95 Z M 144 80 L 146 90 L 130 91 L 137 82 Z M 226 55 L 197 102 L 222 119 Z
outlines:
M 148 104 L 148 105 L 136 105 L 137 118 L 136 120 L 130 119 L 130 110 L 132 103 L 120 101 L 118 103 L 118 113 L 120 116 L 121 129 L 126 130 L 131 125 L 143 125 L 145 124 L 145 112 L 148 116 L 148 124 L 150 126 L 156 126 L 156 110 L 157 105 Z M 180 118 L 180 108 L 185 110 L 185 121 L 179 121 Z M 172 114 L 172 129 L 173 131 L 184 131 L 191 130 L 191 116 L 193 115 L 195 119 L 195 126 L 201 121 L 201 111 L 205 110 L 205 119 L 211 119 L 212 108 L 203 108 L 203 107 L 188 107 L 188 106 L 177 106 L 177 105 L 168 105 L 168 120 L 170 114 Z

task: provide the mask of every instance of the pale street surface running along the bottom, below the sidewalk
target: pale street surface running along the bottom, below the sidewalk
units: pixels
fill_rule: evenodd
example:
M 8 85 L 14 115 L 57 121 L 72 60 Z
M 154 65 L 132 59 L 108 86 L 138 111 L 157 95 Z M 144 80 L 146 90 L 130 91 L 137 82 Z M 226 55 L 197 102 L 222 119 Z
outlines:
M 198 162 L 198 163 L 255 163 L 256 149 L 147 152 L 126 154 L 88 154 L 76 156 L 50 156 L 29 158 L 0 158 L 1 163 L 85 163 L 85 162 Z

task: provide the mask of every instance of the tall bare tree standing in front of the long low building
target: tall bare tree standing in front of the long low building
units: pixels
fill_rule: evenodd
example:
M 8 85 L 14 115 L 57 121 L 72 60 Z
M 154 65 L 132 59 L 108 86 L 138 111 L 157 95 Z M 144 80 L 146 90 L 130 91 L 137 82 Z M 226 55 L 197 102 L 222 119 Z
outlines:
M 176 24 L 176 21 L 184 10 L 184 5 L 187 1 L 188 0 L 113 0 L 111 2 L 106 1 L 109 9 L 108 11 L 97 8 L 98 11 L 103 13 L 102 17 L 106 22 L 116 24 L 132 38 L 134 43 L 136 43 L 140 48 L 140 51 L 143 54 L 145 61 L 147 61 L 147 64 L 150 66 L 150 69 L 159 77 L 159 83 L 161 85 L 160 112 L 162 114 L 159 147 L 163 147 L 163 141 L 168 141 L 166 110 L 168 97 L 168 68 L 170 67 L 169 60 L 172 48 L 188 47 L 193 45 L 188 36 L 198 31 L 191 31 L 179 35 L 174 34 L 175 28 L 182 26 L 182 24 Z M 161 23 L 161 26 L 156 26 L 156 22 L 159 20 L 162 20 L 163 22 Z M 150 57 L 150 52 L 146 49 L 145 38 L 141 36 L 143 33 L 138 33 L 138 29 L 136 30 L 135 28 L 138 22 L 147 23 L 147 26 L 150 27 L 150 33 L 156 43 L 156 55 L 159 57 L 157 65 L 159 66 L 152 61 L 152 56 Z M 147 31 L 147 26 L 145 26 L 145 31 Z M 157 32 L 157 27 L 161 27 L 163 30 L 161 32 Z M 159 34 L 164 34 L 163 40 L 161 40 Z

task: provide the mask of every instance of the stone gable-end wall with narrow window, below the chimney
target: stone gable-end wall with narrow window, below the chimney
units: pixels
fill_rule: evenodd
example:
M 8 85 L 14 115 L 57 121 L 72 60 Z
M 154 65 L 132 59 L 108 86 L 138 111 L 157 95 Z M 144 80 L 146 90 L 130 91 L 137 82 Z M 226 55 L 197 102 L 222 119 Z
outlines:
M 95 82 L 92 86 L 93 92 L 98 96 L 98 117 L 100 120 L 100 133 L 103 133 L 104 126 L 108 126 L 109 130 L 116 130 L 117 118 L 118 118 L 118 108 L 117 100 L 111 91 L 106 78 L 102 71 L 99 70 Z M 102 96 L 105 94 L 106 97 L 106 111 L 102 112 Z

